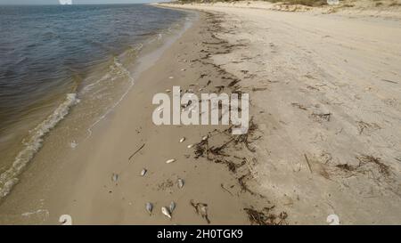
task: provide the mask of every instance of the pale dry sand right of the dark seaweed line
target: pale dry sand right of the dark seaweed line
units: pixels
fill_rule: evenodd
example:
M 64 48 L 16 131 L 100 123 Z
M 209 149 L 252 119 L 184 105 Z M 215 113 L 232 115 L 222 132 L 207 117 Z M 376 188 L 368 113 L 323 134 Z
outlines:
M 401 223 L 400 12 L 229 5 L 184 7 L 216 12 L 217 36 L 239 46 L 213 60 L 241 79 L 263 134 L 251 187 L 290 223 Z

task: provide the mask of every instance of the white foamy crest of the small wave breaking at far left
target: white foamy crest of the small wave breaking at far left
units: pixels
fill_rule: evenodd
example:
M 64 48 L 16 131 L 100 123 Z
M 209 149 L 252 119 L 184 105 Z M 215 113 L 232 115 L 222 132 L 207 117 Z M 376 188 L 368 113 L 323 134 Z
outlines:
M 42 147 L 45 134 L 49 133 L 69 113 L 70 107 L 78 103 L 78 101 L 76 93 L 68 93 L 66 100 L 49 117 L 29 131 L 29 138 L 23 141 L 24 148 L 20 150 L 12 166 L 3 174 L 0 174 L 0 198 L 4 198 L 10 193 L 12 187 L 18 182 L 17 176 L 20 175 L 22 169 Z

